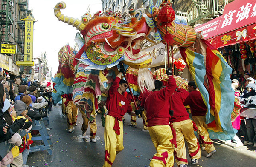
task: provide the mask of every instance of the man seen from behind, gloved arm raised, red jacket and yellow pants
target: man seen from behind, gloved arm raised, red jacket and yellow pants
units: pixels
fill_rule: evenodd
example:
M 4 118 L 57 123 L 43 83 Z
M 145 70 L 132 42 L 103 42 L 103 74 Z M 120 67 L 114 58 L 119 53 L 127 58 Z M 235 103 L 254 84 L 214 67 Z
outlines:
M 176 83 L 172 76 L 172 68 L 168 68 L 166 74 L 169 78 L 168 85 L 162 89 L 162 82 L 155 80 L 155 89 L 145 100 L 148 130 L 157 150 L 150 161 L 150 167 L 173 167 L 174 163 L 168 99 L 175 91 Z

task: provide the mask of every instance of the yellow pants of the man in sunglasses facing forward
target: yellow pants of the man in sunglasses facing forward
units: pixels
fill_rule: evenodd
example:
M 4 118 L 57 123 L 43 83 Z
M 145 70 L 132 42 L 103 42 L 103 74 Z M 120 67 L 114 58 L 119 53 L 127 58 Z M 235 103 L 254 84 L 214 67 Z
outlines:
M 123 146 L 123 124 L 118 121 L 120 127 L 120 135 L 117 135 L 113 129 L 115 125 L 115 118 L 113 116 L 106 116 L 104 141 L 105 141 L 105 160 L 103 167 L 112 167 L 116 159 L 116 154 L 124 149 Z

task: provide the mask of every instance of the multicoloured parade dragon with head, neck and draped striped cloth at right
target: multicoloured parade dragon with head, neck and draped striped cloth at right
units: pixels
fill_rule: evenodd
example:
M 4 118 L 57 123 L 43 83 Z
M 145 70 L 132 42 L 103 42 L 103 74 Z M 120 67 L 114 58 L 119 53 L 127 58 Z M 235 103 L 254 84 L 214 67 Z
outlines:
M 192 27 L 174 21 L 171 4 L 169 0 L 157 0 L 154 6 L 150 0 L 148 14 L 143 9 L 130 10 L 125 19 L 113 11 L 99 11 L 93 17 L 86 13 L 81 19 L 74 19 L 64 16 L 61 9 L 66 4 L 58 3 L 54 8 L 58 20 L 76 27 L 83 36 L 76 35 L 79 51 L 72 57 L 75 67 L 73 101 L 82 114 L 88 117 L 96 114 L 98 99 L 102 92 L 108 91 L 120 62 L 139 69 L 140 88 L 152 90 L 153 79 L 147 68 L 154 64 L 155 58 L 141 49 L 144 40 L 154 42 L 149 39 L 151 34 L 155 41 L 180 48 L 208 107 L 207 123 L 212 139 L 232 139 L 236 133 L 231 125 L 234 93 L 229 74 L 232 69 Z M 164 61 L 159 65 L 161 63 Z

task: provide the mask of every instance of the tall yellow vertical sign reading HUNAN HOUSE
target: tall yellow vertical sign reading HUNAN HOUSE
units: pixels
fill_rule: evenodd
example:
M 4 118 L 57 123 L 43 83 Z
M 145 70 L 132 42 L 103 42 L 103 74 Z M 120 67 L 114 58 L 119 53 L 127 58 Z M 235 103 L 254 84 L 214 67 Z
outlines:
M 25 19 L 25 46 L 24 46 L 24 62 L 33 61 L 33 31 L 35 19 L 29 15 Z

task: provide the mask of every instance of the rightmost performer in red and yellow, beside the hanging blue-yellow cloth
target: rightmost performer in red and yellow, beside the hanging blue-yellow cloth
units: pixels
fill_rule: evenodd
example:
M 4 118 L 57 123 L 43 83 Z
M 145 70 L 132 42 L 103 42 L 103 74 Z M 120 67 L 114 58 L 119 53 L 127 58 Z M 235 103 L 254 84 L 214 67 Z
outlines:
M 198 127 L 197 133 L 199 137 L 201 150 L 206 150 L 208 153 L 206 157 L 209 158 L 210 156 L 216 153 L 216 150 L 212 143 L 212 140 L 210 139 L 209 133 L 207 131 L 207 124 L 205 123 L 206 122 L 205 115 L 207 112 L 207 107 L 204 104 L 201 93 L 196 89 L 197 89 L 197 86 L 195 85 L 195 82 L 189 81 L 188 83 L 189 96 L 186 98 L 183 104 L 185 106 L 186 105 L 190 106 L 193 121 Z

